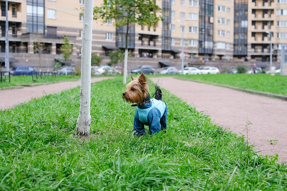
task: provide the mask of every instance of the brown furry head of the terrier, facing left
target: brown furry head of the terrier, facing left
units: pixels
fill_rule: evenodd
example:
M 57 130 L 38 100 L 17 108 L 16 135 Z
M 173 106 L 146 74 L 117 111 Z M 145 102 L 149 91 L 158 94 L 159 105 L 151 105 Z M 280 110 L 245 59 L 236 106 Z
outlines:
M 123 99 L 126 102 L 140 103 L 149 95 L 149 86 L 147 84 L 146 76 L 142 73 L 134 78 L 131 75 L 132 81 L 126 85 L 126 91 L 123 92 Z

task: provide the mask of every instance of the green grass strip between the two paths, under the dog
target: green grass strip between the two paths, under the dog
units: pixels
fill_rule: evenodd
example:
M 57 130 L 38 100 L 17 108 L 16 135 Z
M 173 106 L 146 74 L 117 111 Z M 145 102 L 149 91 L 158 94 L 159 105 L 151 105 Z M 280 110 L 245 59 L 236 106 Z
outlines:
M 257 156 L 165 90 L 167 133 L 133 137 L 121 79 L 91 86 L 90 142 L 73 135 L 79 87 L 0 111 L 0 190 L 286 189 L 277 156 Z

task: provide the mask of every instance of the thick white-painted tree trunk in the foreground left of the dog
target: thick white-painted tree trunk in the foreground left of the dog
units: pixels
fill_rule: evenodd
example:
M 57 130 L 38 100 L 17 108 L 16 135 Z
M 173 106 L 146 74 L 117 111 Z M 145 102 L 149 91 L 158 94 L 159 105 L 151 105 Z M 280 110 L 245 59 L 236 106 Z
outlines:
M 91 124 L 91 52 L 93 36 L 94 0 L 85 0 L 83 21 L 83 54 L 81 65 L 80 112 L 76 133 L 88 136 Z

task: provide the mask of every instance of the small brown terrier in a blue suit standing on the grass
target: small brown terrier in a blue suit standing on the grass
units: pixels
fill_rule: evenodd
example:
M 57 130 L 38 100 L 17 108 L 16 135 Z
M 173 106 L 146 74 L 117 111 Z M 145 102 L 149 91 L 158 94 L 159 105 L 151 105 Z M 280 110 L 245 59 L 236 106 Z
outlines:
M 153 135 L 167 128 L 167 104 L 162 101 L 160 87 L 155 85 L 154 99 L 149 96 L 149 86 L 144 74 L 134 78 L 126 85 L 123 99 L 126 102 L 137 103 L 134 119 L 134 135 L 144 135 L 144 125 L 149 126 L 149 134 Z

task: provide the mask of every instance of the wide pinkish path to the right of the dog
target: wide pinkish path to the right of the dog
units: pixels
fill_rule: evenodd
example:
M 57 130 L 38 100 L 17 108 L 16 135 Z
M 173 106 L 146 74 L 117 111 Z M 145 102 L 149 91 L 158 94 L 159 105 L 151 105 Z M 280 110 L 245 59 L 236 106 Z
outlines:
M 287 162 L 287 101 L 172 77 L 151 79 L 235 133 L 245 134 L 248 117 L 252 122 L 248 137 L 255 150 L 262 155 L 277 153 L 279 162 Z

